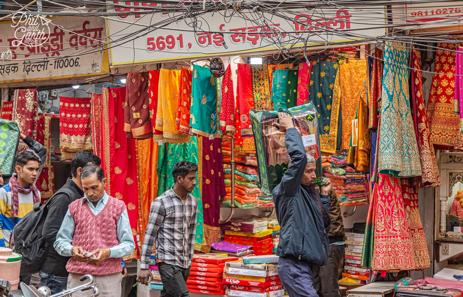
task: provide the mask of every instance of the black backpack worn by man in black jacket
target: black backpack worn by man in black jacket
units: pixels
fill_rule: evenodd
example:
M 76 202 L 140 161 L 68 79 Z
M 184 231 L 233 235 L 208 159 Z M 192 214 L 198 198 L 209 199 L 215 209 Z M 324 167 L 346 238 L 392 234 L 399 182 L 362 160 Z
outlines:
M 59 193 L 66 193 L 69 196 L 69 203 L 74 195 L 71 190 L 61 188 L 44 205 L 40 202 L 35 203 L 34 210 L 27 213 L 13 228 L 10 247 L 15 253 L 23 256 L 20 275 L 36 273 L 42 266 L 47 255 L 47 243 L 42 237 L 42 229 L 48 215 L 48 205 Z

